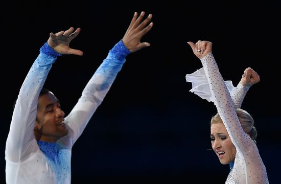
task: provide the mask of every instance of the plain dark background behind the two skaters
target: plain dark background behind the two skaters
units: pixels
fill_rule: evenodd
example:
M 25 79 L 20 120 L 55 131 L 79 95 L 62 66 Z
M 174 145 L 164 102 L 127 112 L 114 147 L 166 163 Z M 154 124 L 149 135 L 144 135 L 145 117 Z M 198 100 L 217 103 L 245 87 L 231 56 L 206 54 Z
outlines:
M 184 2 L 184 3 L 183 3 Z M 6 2 L 7 3 L 7 2 Z M 71 46 L 83 56 L 59 57 L 45 87 L 66 115 L 133 13 L 153 14 L 154 27 L 130 54 L 72 152 L 73 183 L 224 183 L 228 165 L 211 148 L 213 103 L 190 93 L 185 75 L 202 65 L 187 41 L 213 42 L 225 80 L 237 85 L 246 67 L 261 81 L 242 108 L 258 130 L 257 146 L 270 183 L 280 167 L 280 1 L 37 1 L 2 6 L 0 178 L 13 102 L 50 32 L 81 28 Z M 4 24 L 4 25 L 3 25 Z

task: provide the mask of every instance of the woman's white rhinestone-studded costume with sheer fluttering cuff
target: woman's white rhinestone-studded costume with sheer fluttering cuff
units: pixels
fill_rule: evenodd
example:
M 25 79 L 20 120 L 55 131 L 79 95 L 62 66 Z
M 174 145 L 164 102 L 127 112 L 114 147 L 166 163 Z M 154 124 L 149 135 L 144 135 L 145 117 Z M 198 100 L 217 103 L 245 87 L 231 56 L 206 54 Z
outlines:
M 230 165 L 231 170 L 225 183 L 269 183 L 259 150 L 242 129 L 235 111 L 240 108 L 249 87 L 239 83 L 235 88 L 231 81 L 224 81 L 212 53 L 201 59 L 201 62 L 203 68 L 186 75 L 186 81 L 192 82 L 193 88 L 190 91 L 214 102 L 236 148 L 234 164 Z

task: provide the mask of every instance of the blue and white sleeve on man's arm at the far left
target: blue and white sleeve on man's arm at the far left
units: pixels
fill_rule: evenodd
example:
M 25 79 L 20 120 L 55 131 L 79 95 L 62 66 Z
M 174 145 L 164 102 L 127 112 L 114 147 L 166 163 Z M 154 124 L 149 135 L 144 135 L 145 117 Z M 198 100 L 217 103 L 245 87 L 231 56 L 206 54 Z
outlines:
M 6 159 L 11 162 L 23 161 L 39 149 L 33 134 L 38 96 L 57 56 L 45 43 L 20 87 L 5 150 Z

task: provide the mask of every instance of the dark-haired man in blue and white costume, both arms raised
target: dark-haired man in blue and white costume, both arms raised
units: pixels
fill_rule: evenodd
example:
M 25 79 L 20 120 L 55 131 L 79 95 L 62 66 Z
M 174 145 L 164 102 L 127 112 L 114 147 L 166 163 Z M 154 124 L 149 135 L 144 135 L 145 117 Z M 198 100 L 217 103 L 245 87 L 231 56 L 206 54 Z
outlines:
M 71 183 L 74 143 L 106 96 L 126 56 L 150 46 L 148 42 L 140 42 L 153 26 L 150 22 L 152 15 L 143 20 L 144 15 L 145 12 L 139 16 L 134 13 L 124 37 L 109 51 L 78 103 L 65 118 L 59 100 L 42 87 L 57 56 L 83 55 L 82 51 L 69 47 L 80 28 L 50 33 L 20 88 L 15 104 L 5 151 L 8 184 Z

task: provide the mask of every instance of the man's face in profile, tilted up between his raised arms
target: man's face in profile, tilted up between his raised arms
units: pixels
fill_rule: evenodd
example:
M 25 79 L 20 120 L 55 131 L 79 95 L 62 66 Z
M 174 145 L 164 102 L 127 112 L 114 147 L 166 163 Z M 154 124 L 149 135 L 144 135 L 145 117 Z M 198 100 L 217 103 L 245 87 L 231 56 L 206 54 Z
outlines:
M 67 135 L 68 129 L 63 117 L 64 112 L 60 108 L 59 100 L 52 92 L 40 96 L 34 127 L 34 133 L 39 134 L 39 138 L 36 137 L 36 139 L 56 142 L 62 136 Z

